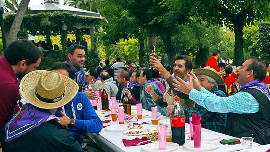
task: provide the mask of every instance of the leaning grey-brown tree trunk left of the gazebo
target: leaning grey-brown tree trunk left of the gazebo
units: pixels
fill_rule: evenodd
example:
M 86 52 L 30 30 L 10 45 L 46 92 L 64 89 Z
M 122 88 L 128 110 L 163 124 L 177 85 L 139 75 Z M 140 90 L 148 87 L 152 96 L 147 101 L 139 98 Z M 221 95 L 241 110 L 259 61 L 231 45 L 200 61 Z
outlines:
M 11 42 L 15 41 L 17 39 L 17 34 L 21 26 L 21 22 L 24 18 L 24 14 L 27 10 L 27 6 L 29 4 L 30 0 L 22 0 L 19 6 L 19 9 L 16 13 L 16 16 L 14 18 L 14 21 L 10 27 L 10 32 L 7 38 L 7 46 L 10 45 Z

